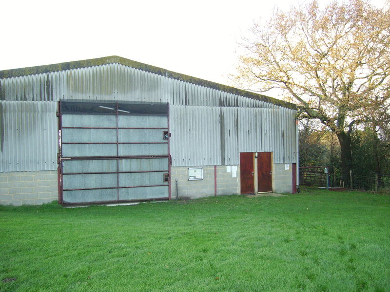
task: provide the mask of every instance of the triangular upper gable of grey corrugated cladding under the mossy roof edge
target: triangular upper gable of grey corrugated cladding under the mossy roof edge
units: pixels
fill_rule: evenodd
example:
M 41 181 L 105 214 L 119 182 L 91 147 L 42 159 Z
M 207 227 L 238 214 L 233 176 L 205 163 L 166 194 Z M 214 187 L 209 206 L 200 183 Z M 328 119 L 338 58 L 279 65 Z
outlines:
M 171 105 L 281 108 L 264 101 L 108 64 L 0 80 L 0 99 L 59 101 L 105 99 L 169 102 Z

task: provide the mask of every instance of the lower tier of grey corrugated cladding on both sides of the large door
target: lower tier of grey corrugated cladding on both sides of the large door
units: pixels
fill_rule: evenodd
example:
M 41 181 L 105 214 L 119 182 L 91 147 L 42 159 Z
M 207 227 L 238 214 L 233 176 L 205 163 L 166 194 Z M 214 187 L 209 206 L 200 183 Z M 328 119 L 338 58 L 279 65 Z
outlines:
M 56 107 L 56 102 L 1 102 L 1 171 L 56 169 Z M 294 113 L 171 106 L 173 166 L 238 164 L 239 152 L 246 151 L 273 151 L 275 163 L 295 162 Z

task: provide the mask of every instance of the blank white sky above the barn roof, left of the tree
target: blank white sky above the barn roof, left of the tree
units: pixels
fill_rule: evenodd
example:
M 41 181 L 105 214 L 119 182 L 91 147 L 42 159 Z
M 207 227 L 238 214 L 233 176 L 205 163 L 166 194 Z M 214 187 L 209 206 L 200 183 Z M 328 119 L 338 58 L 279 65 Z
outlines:
M 240 36 L 275 5 L 292 4 L 298 0 L 5 0 L 0 70 L 119 55 L 228 84 Z

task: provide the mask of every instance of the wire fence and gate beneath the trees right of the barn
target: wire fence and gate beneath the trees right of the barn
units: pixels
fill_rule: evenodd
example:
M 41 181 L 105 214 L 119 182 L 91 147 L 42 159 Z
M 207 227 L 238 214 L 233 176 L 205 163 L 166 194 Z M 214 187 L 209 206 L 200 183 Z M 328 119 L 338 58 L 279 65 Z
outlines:
M 299 167 L 299 185 L 390 193 L 390 176 L 350 172 L 349 177 L 341 178 L 340 171 L 332 166 L 309 166 Z

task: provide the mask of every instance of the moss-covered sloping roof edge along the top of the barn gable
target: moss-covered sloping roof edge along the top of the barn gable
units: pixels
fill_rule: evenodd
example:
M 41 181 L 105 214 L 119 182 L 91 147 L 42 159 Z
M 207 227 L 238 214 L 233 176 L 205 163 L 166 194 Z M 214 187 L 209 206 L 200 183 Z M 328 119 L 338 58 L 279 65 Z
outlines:
M 105 64 L 113 64 L 118 63 L 124 66 L 132 67 L 135 69 L 143 70 L 150 73 L 155 73 L 158 75 L 166 76 L 169 78 L 193 83 L 196 85 L 213 88 L 220 91 L 225 91 L 241 96 L 245 96 L 248 98 L 261 100 L 265 102 L 272 103 L 274 105 L 278 105 L 281 107 L 285 107 L 288 109 L 296 110 L 296 105 L 279 100 L 273 97 L 269 97 L 262 94 L 257 94 L 251 91 L 244 91 L 241 89 L 237 89 L 234 87 L 230 87 L 223 84 L 218 84 L 215 82 L 207 81 L 204 79 L 192 77 L 185 74 L 176 73 L 173 71 L 169 71 L 166 69 L 162 69 L 159 67 L 147 65 L 144 63 L 140 63 L 137 61 L 133 61 L 130 59 L 126 59 L 119 56 L 108 56 L 108 57 L 102 57 L 102 58 L 96 58 L 96 59 L 88 59 L 88 60 L 81 60 L 81 61 L 72 61 L 72 62 L 65 62 L 65 63 L 59 63 L 59 64 L 51 64 L 51 65 L 43 65 L 43 66 L 36 66 L 36 67 L 27 67 L 27 68 L 20 68 L 20 69 L 10 69 L 10 70 L 3 70 L 0 71 L 0 78 L 10 78 L 10 77 L 18 77 L 18 76 L 25 76 L 25 75 L 32 75 L 32 74 L 39 74 L 39 73 L 49 73 L 49 72 L 57 72 L 57 71 L 63 71 L 63 70 L 70 70 L 70 69 L 78 69 L 78 68 L 85 68 L 85 67 L 92 67 L 92 66 L 99 66 L 99 65 L 105 65 Z

